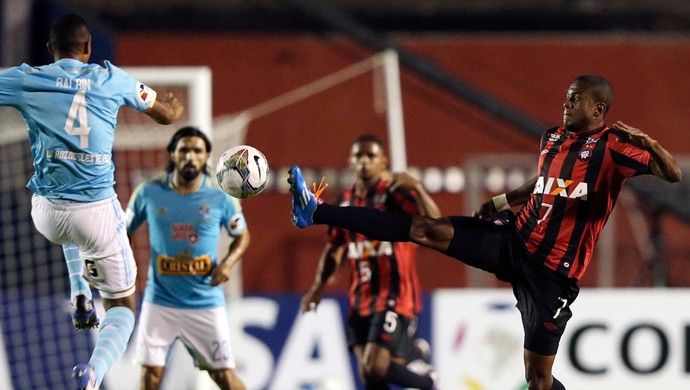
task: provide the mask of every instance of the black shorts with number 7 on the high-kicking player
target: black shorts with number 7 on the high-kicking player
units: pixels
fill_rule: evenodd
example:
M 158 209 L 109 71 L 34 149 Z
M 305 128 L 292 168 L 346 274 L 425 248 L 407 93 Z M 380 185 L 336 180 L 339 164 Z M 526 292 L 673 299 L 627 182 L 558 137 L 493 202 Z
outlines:
M 472 217 L 451 217 L 455 235 L 446 254 L 510 282 L 525 331 L 525 349 L 555 355 L 580 291 L 577 281 L 547 268 L 527 252 L 512 214 L 498 225 Z

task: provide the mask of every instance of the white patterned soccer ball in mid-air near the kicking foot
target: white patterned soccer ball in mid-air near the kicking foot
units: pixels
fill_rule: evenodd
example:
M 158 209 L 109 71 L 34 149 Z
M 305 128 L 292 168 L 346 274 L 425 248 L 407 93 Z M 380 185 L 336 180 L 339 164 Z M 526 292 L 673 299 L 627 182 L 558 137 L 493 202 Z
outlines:
M 234 198 L 251 198 L 266 188 L 268 161 L 258 149 L 237 145 L 223 152 L 216 167 L 218 185 Z

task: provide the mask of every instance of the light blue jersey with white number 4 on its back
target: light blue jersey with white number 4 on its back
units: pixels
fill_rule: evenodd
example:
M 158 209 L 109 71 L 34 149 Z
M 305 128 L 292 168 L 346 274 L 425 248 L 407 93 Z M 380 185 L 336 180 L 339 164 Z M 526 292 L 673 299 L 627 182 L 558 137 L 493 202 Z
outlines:
M 0 72 L 0 105 L 18 109 L 29 127 L 35 172 L 27 187 L 46 198 L 112 197 L 118 110 L 144 111 L 155 100 L 155 91 L 108 61 L 61 59 Z

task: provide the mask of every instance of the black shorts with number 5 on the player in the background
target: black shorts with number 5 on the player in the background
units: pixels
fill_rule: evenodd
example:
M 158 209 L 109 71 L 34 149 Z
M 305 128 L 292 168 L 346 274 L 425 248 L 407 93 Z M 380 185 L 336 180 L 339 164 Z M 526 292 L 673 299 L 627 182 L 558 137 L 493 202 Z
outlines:
M 391 355 L 406 359 L 412 353 L 412 338 L 417 332 L 417 317 L 406 317 L 394 311 L 371 316 L 350 315 L 347 319 L 347 345 L 375 343 Z

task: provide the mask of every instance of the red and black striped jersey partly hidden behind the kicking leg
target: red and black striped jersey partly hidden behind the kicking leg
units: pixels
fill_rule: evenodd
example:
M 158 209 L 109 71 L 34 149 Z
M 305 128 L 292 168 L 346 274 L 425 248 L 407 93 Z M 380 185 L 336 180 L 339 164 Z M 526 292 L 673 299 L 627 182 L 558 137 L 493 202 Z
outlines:
M 420 213 L 416 192 L 401 188 L 389 192 L 389 185 L 388 181 L 379 180 L 365 197 L 355 197 L 354 189 L 345 191 L 336 204 L 373 207 L 393 213 Z M 351 276 L 350 314 L 368 316 L 394 310 L 411 317 L 422 311 L 415 244 L 370 240 L 335 226 L 329 227 L 328 233 L 333 246 L 345 245 L 344 256 Z

